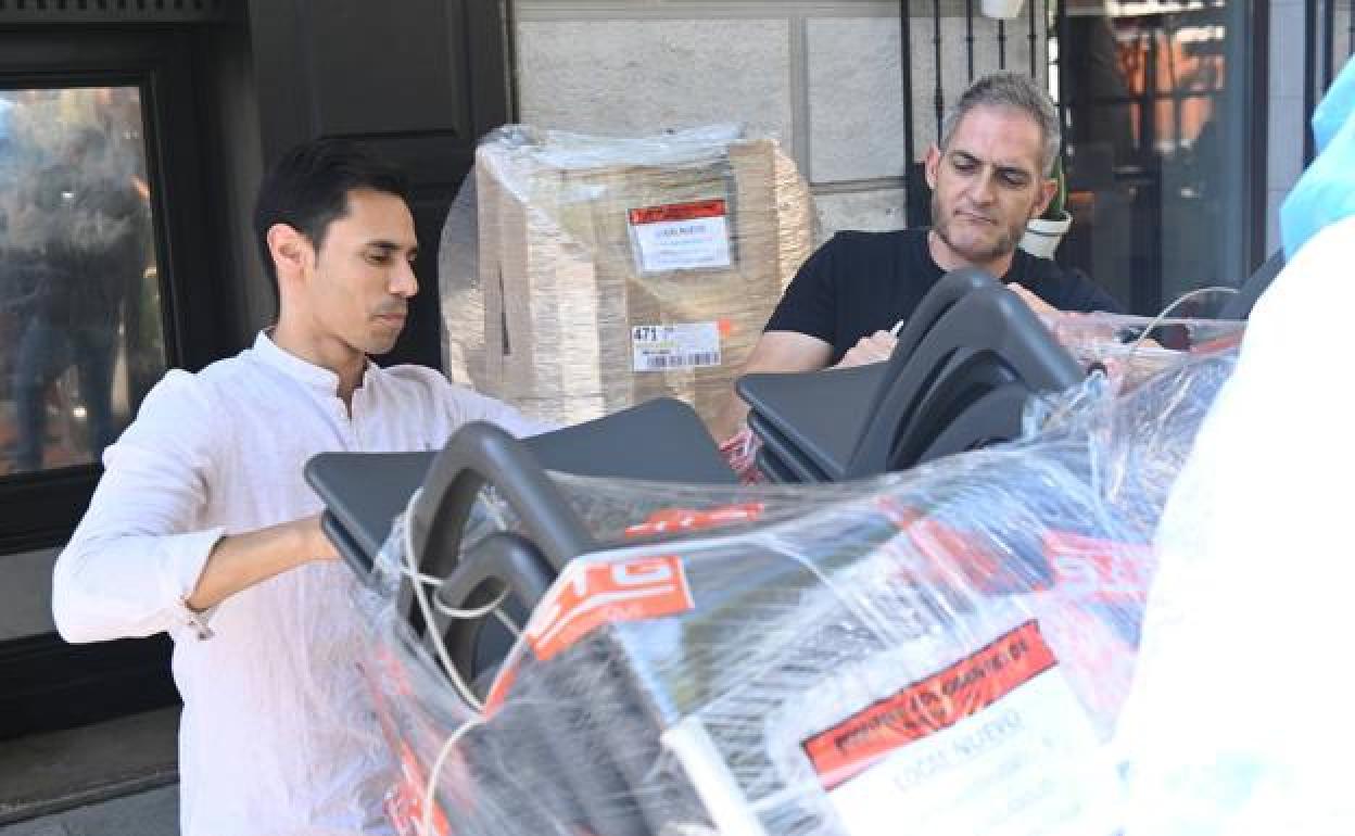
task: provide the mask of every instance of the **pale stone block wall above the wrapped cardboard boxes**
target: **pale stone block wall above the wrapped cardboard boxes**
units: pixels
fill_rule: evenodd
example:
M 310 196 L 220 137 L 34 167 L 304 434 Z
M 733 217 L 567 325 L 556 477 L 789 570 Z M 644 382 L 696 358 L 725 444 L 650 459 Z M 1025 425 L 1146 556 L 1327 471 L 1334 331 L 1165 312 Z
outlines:
M 936 133 L 931 9 L 913 3 L 917 159 Z M 963 12 L 942 3 L 947 102 L 969 77 Z M 514 18 L 523 122 L 603 134 L 743 122 L 799 164 L 822 234 L 904 226 L 898 3 L 515 0 Z M 1012 69 L 1030 66 L 1027 20 L 1007 26 Z M 976 12 L 976 75 L 997 68 L 996 33 Z M 1042 22 L 1035 47 L 1042 69 Z

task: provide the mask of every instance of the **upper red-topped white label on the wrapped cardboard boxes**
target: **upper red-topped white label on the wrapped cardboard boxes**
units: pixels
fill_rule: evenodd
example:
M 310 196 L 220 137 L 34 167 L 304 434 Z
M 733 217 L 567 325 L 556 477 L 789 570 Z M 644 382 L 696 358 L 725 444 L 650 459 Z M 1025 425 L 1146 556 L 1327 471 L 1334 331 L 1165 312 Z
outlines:
M 631 209 L 629 221 L 642 272 L 729 267 L 724 201 Z

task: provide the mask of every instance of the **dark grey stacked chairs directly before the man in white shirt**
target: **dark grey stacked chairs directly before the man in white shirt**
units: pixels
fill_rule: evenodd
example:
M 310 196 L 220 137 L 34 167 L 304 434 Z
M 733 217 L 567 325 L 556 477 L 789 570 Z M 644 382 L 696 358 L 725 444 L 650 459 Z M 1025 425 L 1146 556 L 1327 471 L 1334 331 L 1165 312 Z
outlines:
M 306 478 L 327 503 L 325 532 L 360 577 L 371 570 L 392 519 L 421 488 L 411 519 L 412 558 L 420 574 L 444 579 L 436 603 L 478 608 L 507 589 L 505 608 L 520 619 L 569 560 L 598 547 L 547 470 L 737 484 L 695 411 L 671 398 L 527 439 L 473 423 L 436 454 L 321 454 L 308 462 Z M 495 532 L 467 551 L 463 531 L 486 485 L 512 505 L 524 534 Z M 427 625 L 411 579 L 401 584 L 398 607 L 415 635 L 444 642 L 467 683 L 492 671 L 514 642 L 493 618 L 449 619 L 434 607 Z

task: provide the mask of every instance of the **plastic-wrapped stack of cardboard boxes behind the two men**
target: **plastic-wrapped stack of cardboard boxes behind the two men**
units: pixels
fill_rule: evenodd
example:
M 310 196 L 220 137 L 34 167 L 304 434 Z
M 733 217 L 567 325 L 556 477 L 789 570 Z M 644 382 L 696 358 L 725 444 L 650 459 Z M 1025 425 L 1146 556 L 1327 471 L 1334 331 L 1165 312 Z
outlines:
M 737 127 L 500 129 L 443 228 L 444 367 L 560 424 L 664 394 L 710 423 L 813 217 L 794 163 Z

